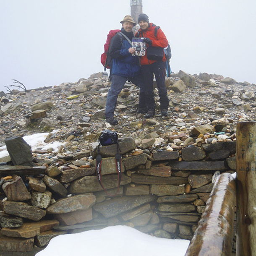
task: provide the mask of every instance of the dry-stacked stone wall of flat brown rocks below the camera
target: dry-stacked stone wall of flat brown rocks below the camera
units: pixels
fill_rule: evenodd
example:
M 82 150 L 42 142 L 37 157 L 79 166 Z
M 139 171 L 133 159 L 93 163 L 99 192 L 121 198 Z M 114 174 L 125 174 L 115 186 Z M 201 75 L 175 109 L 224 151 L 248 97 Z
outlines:
M 0 250 L 31 251 L 60 234 L 111 225 L 190 240 L 217 175 L 235 170 L 235 141 L 149 150 L 154 142 L 144 138 L 138 148 L 132 137 L 120 138 L 119 189 L 117 145 L 100 147 L 102 183 L 114 197 L 95 173 L 97 143 L 36 167 L 0 167 Z

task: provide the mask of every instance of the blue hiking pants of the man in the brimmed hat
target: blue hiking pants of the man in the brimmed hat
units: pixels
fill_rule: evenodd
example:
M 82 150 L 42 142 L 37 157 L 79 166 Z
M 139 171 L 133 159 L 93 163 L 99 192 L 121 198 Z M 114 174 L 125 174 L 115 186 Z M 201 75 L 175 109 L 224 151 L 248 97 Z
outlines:
M 145 97 L 145 86 L 144 86 L 144 79 L 142 74 L 135 76 L 133 78 L 126 78 L 123 76 L 112 75 L 111 78 L 111 87 L 107 94 L 107 102 L 106 102 L 106 109 L 105 109 L 105 117 L 112 118 L 114 117 L 114 111 L 118 100 L 118 95 L 123 89 L 125 82 L 131 81 L 133 84 L 140 88 L 140 95 L 139 95 L 139 107 L 144 108 L 146 107 L 146 97 Z

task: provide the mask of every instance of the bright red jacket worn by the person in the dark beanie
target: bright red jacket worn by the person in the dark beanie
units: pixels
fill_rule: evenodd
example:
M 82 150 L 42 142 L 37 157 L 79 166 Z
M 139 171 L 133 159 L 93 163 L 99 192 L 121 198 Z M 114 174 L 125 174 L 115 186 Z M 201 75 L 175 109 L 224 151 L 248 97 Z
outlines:
M 155 37 L 155 28 L 156 25 L 154 25 L 153 23 L 149 23 L 149 27 L 146 30 L 138 30 L 138 32 L 136 33 L 136 37 L 148 37 L 150 40 L 152 40 L 152 46 L 154 47 L 167 47 L 168 41 L 167 38 L 165 37 L 164 32 L 162 31 L 162 29 L 159 28 L 157 30 L 157 37 Z M 149 65 L 156 61 L 157 60 L 149 60 L 147 58 L 147 55 L 141 56 L 141 65 Z M 163 57 L 163 61 L 166 61 L 165 55 Z

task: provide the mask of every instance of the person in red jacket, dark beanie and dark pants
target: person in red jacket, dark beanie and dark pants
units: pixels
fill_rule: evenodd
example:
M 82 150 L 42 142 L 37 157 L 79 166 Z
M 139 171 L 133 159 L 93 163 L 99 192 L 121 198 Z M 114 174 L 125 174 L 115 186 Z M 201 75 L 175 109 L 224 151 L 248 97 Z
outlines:
M 138 24 L 140 26 L 140 29 L 136 33 L 136 37 L 145 37 L 144 42 L 146 43 L 147 48 L 160 47 L 164 52 L 163 48 L 168 46 L 168 41 L 162 29 L 160 29 L 160 27 L 157 27 L 153 23 L 149 23 L 149 17 L 144 13 L 141 13 L 138 16 Z M 152 58 L 149 59 L 149 57 L 147 56 L 147 50 L 146 54 L 141 57 L 141 69 L 147 91 L 146 102 L 148 102 L 148 112 L 144 116 L 145 118 L 152 118 L 155 115 L 156 105 L 154 102 L 153 89 L 154 75 L 157 81 L 161 113 L 163 116 L 168 115 L 169 99 L 167 97 L 167 89 L 165 87 L 165 62 L 166 58 L 164 53 L 161 60 L 153 60 Z

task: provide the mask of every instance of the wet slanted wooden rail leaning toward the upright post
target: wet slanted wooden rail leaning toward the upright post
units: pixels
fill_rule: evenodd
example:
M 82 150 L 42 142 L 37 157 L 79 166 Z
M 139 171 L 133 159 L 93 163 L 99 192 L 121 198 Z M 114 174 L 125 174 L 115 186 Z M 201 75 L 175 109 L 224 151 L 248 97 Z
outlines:
M 235 217 L 235 179 L 216 180 L 185 256 L 231 256 Z

